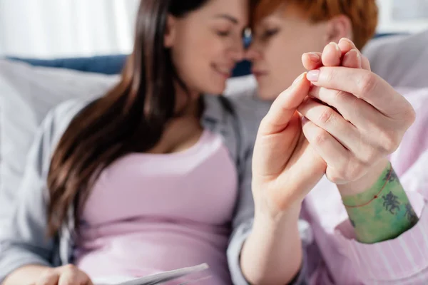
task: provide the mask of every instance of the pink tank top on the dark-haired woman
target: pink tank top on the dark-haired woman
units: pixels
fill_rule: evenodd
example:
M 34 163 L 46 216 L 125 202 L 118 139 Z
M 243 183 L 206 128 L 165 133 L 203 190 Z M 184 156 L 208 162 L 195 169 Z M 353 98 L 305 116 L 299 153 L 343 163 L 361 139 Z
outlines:
M 81 217 L 76 265 L 91 276 L 146 276 L 207 263 L 230 284 L 226 249 L 238 194 L 220 135 L 183 152 L 126 155 L 101 173 Z

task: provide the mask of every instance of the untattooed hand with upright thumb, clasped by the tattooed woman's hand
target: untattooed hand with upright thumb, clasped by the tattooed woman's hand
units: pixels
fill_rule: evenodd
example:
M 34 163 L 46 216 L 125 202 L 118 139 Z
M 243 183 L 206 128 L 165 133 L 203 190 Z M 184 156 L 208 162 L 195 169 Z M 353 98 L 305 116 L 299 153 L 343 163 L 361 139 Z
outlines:
M 327 45 L 315 54 L 318 61 L 311 61 L 308 53 L 302 57 L 308 70 L 340 65 L 370 70 L 367 58 L 350 41 L 340 41 L 339 49 Z M 281 217 L 281 213 L 298 211 L 307 193 L 325 175 L 327 164 L 303 135 L 297 113 L 309 93 L 310 82 L 304 73 L 277 97 L 260 124 L 253 155 L 253 196 L 258 213 Z

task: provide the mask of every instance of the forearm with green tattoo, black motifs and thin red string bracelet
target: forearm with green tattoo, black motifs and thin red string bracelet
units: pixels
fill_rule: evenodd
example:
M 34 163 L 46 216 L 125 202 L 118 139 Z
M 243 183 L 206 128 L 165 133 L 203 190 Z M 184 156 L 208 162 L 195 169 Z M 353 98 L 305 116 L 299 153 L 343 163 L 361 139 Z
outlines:
M 371 187 L 359 194 L 342 194 L 357 240 L 367 244 L 394 239 L 417 223 L 412 204 L 391 165 L 387 162 L 380 167 L 374 167 L 367 177 Z

